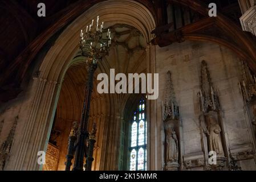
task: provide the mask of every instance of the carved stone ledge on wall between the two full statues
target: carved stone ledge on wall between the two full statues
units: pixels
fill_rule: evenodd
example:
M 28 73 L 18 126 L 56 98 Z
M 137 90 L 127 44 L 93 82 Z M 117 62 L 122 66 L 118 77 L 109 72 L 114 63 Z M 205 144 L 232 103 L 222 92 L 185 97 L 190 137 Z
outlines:
M 196 154 L 184 155 L 184 166 L 186 169 L 195 168 L 195 167 L 204 167 L 205 159 L 202 152 Z

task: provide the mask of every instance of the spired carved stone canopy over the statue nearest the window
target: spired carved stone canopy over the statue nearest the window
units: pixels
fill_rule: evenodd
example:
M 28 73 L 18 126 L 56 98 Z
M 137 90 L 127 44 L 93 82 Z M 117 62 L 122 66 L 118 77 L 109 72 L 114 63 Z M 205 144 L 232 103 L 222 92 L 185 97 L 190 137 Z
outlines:
M 165 122 L 168 119 L 178 119 L 179 115 L 171 73 L 168 71 L 166 73 L 164 103 L 162 104 L 162 120 Z

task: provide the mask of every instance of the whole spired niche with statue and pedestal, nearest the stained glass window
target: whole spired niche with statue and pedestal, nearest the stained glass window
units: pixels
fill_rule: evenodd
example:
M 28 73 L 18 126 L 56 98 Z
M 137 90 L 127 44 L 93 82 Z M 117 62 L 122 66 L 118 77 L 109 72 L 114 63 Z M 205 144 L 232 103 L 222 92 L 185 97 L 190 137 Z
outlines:
M 178 142 L 180 119 L 169 71 L 166 73 L 164 102 L 162 102 L 162 121 L 164 122 L 165 131 L 165 169 L 175 171 L 180 167 L 180 147 Z

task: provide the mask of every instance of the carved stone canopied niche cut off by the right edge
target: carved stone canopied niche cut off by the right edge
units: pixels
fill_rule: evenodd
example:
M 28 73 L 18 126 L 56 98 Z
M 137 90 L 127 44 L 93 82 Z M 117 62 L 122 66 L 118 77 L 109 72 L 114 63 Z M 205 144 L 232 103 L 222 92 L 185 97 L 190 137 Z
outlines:
M 254 153 L 254 159 L 256 161 L 256 77 L 245 61 L 241 61 L 241 64 L 242 79 L 238 85 L 243 98 L 243 109 L 246 114 L 247 126 L 249 127 L 251 150 Z M 241 152 L 246 153 L 246 151 Z M 247 158 L 250 158 L 250 155 L 247 155 Z

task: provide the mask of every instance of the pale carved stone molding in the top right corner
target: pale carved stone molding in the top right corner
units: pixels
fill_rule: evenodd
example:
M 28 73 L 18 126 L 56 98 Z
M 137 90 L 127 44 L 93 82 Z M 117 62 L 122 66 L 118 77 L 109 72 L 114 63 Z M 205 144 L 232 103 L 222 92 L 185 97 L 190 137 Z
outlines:
M 251 32 L 256 36 L 256 5 L 250 7 L 240 18 L 243 31 Z

